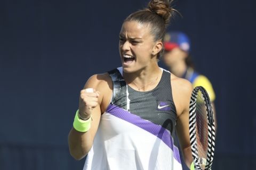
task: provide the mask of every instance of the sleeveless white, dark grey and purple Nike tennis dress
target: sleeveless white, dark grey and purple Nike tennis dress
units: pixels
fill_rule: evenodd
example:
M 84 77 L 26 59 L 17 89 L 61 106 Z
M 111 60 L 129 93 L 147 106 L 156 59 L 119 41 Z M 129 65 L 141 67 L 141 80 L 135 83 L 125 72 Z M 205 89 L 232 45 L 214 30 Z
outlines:
M 101 115 L 84 170 L 180 170 L 173 143 L 176 109 L 170 72 L 151 91 L 135 91 L 125 83 L 122 67 L 109 72 L 113 98 Z

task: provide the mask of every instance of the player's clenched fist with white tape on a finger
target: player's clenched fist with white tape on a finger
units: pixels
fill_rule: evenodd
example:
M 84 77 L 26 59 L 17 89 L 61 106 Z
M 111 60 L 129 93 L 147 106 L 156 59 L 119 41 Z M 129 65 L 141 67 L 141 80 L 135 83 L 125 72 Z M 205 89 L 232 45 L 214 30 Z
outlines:
M 98 97 L 100 96 L 99 91 L 95 89 L 83 89 L 80 92 L 79 98 L 79 115 L 83 120 L 90 118 L 92 109 L 98 105 Z

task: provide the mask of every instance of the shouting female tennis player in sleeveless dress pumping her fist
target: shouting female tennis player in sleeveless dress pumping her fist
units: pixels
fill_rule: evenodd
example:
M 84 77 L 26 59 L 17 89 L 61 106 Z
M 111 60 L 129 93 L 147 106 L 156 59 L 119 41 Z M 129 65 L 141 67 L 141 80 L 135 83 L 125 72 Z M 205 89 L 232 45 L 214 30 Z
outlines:
M 119 33 L 122 66 L 87 80 L 79 97 L 69 150 L 84 169 L 182 169 L 193 161 L 188 128 L 193 87 L 158 66 L 171 2 L 152 0 L 130 14 Z

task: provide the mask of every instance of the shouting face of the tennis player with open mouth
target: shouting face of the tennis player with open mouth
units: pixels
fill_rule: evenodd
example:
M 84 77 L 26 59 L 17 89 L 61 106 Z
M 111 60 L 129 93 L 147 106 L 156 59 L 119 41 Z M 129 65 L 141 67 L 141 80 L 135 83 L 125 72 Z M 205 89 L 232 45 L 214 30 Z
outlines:
M 119 34 L 119 53 L 124 72 L 142 70 L 157 62 L 156 57 L 152 56 L 155 45 L 149 24 L 124 22 Z

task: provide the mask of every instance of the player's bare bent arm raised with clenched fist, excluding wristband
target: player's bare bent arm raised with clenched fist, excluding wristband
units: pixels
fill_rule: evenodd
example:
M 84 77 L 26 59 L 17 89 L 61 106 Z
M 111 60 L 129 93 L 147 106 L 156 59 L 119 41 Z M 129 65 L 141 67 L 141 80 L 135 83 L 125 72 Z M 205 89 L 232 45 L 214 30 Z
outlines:
M 93 92 L 85 89 L 93 88 Z M 79 132 L 71 128 L 68 135 L 69 152 L 76 160 L 82 159 L 91 149 L 94 136 L 98 130 L 100 117 L 107 108 L 111 98 L 108 74 L 93 75 L 81 90 L 79 97 L 79 114 L 82 118 L 92 117 L 91 128 L 86 132 Z

